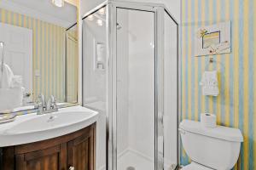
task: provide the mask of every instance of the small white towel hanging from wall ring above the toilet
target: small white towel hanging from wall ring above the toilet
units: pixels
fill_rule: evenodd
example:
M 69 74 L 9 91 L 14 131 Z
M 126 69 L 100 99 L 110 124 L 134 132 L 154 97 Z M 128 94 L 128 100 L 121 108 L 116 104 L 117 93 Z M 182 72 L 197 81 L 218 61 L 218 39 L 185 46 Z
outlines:
M 205 71 L 203 73 L 200 85 L 202 86 L 203 95 L 218 96 L 218 72 Z

